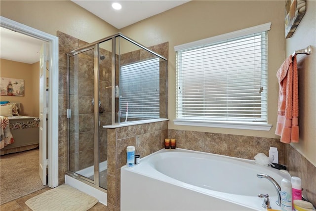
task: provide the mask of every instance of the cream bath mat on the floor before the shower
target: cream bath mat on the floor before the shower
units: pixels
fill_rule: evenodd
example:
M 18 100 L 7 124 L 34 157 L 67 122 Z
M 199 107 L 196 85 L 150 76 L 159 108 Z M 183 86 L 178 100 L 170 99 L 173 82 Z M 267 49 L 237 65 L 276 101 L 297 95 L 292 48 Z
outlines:
M 32 211 L 87 211 L 98 200 L 63 184 L 25 202 Z

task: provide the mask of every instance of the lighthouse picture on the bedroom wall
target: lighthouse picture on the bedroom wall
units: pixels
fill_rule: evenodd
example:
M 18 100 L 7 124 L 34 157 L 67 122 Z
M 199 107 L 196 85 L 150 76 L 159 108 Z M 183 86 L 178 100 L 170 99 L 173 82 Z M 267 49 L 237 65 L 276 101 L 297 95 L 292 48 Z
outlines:
M 1 78 L 1 96 L 24 96 L 24 80 Z

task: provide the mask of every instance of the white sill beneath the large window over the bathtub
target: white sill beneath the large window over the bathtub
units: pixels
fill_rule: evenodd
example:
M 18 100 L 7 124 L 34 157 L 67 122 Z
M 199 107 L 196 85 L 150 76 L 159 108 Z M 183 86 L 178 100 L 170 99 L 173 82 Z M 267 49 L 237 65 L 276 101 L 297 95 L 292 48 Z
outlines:
M 203 121 L 203 120 L 173 120 L 175 125 L 180 126 L 197 126 L 197 127 L 221 127 L 232 129 L 250 129 L 269 131 L 272 125 L 260 122 L 223 122 L 223 121 Z

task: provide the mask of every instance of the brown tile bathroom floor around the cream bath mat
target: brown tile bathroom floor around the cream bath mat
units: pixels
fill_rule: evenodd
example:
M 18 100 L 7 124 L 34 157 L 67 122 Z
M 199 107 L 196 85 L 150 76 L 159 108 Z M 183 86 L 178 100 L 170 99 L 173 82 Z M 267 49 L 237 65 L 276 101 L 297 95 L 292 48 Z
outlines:
M 3 205 L 0 206 L 0 211 L 32 211 L 26 204 L 25 202 L 28 199 L 31 199 L 34 196 L 37 196 L 45 191 L 50 190 L 51 188 L 46 187 L 44 189 L 41 189 L 39 191 L 36 191 L 34 193 L 31 193 L 29 195 L 26 195 L 22 198 L 16 199 L 14 201 L 11 202 L 7 202 Z M 93 206 L 91 209 L 89 209 L 88 211 L 108 211 L 108 207 L 101 204 L 100 202 L 98 202 L 95 206 Z

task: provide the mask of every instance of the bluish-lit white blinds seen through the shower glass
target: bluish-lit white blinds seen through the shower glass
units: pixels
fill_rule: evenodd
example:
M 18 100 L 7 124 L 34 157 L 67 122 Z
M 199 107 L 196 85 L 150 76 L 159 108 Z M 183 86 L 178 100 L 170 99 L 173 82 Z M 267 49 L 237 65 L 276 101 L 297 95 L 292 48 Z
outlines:
M 159 58 L 121 66 L 119 80 L 121 117 L 159 118 Z

